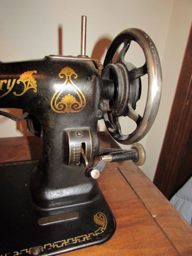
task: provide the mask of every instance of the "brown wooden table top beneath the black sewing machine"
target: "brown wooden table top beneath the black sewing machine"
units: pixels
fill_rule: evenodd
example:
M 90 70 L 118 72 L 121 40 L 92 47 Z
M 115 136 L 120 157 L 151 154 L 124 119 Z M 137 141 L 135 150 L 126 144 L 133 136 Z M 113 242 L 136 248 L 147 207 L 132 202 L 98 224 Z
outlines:
M 0 138 L 0 163 L 37 159 L 39 142 L 33 136 Z M 117 147 L 104 132 L 100 143 Z M 104 244 L 65 256 L 192 256 L 192 227 L 132 161 L 108 163 L 98 183 L 116 231 Z

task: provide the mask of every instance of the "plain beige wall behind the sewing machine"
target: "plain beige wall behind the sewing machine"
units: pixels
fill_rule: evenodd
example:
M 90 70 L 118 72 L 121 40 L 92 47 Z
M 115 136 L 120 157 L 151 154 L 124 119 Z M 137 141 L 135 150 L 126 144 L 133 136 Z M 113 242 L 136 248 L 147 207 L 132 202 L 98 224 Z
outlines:
M 158 49 L 163 70 L 163 94 L 153 128 L 142 140 L 147 161 L 143 171 L 152 179 L 157 165 L 169 111 L 175 92 L 183 51 L 191 23 L 190 0 L 0 0 L 0 59 L 19 61 L 58 54 L 58 26 L 63 27 L 63 54 L 80 54 L 81 15 L 87 15 L 87 55 L 103 61 L 106 49 L 97 43 L 113 38 L 123 29 L 138 27 L 147 32 Z M 128 57 L 127 57 L 128 58 Z M 139 65 L 142 54 L 132 47 L 129 60 Z M 145 106 L 147 81 L 144 79 Z M 122 131 L 134 124 L 121 118 Z M 103 122 L 99 129 L 104 130 Z M 19 125 L 0 117 L 0 137 L 22 136 Z

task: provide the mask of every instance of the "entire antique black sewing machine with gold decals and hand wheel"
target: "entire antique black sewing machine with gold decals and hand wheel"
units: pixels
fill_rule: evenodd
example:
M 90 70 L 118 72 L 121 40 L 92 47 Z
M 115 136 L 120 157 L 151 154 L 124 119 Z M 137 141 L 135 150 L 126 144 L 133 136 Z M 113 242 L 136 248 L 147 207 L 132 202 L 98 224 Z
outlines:
M 131 41 L 143 49 L 142 67 L 124 60 Z M 55 255 L 107 241 L 116 224 L 96 179 L 108 161 L 145 161 L 136 142 L 151 128 L 161 94 L 154 43 L 140 29 L 125 29 L 102 65 L 86 55 L 85 42 L 82 16 L 81 55 L 0 62 L 0 108 L 20 108 L 23 115 L 0 114 L 26 119 L 29 130 L 41 137 L 42 148 L 39 161 L 0 166 L 0 255 Z M 145 74 L 148 96 L 141 117 L 136 104 Z M 133 133 L 122 134 L 119 116 L 136 122 Z M 130 150 L 99 146 L 97 123 L 102 118 L 114 140 L 134 143 Z

